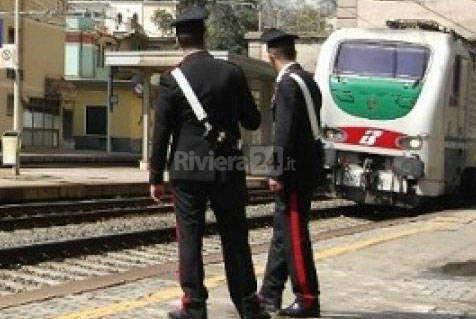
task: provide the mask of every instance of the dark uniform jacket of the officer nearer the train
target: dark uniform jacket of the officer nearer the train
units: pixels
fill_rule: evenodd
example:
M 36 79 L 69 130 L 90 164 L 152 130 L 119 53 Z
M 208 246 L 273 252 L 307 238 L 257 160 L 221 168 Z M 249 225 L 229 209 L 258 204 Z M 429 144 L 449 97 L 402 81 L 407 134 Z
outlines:
M 299 75 L 311 92 L 316 114 L 320 113 L 321 92 L 312 79 L 299 64 L 291 65 L 288 72 L 277 84 L 273 104 L 275 121 L 275 165 L 279 169 L 272 176 L 284 182 L 286 188 L 308 188 L 315 185 L 318 176 L 318 161 L 321 159 L 316 152 L 315 141 L 312 136 L 306 103 L 302 91 L 296 81 L 289 76 L 289 72 Z M 283 156 L 280 156 L 280 151 Z M 294 163 L 294 165 L 293 165 Z

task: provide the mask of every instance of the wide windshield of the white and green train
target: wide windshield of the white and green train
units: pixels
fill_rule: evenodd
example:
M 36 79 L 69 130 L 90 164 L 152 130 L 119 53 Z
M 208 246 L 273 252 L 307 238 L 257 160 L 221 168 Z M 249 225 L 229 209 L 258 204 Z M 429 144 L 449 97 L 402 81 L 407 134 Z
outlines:
M 404 43 L 344 42 L 334 73 L 421 79 L 428 65 L 427 48 Z

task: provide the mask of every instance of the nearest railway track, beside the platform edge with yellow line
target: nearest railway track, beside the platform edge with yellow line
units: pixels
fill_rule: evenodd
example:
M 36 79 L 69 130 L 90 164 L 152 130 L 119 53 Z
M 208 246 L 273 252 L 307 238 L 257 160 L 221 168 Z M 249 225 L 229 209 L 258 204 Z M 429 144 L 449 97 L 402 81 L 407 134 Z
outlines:
M 250 243 L 254 252 L 265 252 L 272 234 L 269 227 L 272 205 L 266 204 L 270 198 L 263 199 L 266 193 L 261 191 L 255 197 L 262 199 L 261 204 L 248 207 Z M 313 203 L 311 216 L 311 233 L 319 240 L 418 221 L 430 218 L 435 212 L 435 209 L 363 210 L 350 202 L 321 199 Z M 175 225 L 173 213 L 164 212 L 163 215 L 167 215 L 168 223 L 154 229 L 1 248 L 0 309 L 157 274 L 173 277 L 177 262 Z M 208 216 L 205 263 L 220 261 L 220 248 L 216 223 Z

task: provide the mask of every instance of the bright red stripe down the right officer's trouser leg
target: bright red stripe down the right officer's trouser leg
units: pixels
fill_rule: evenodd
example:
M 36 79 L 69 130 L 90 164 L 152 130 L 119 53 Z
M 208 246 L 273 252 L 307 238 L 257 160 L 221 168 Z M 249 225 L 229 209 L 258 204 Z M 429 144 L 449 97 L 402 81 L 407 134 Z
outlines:
M 296 271 L 297 285 L 303 293 L 303 301 L 306 306 L 312 306 L 311 289 L 307 280 L 307 270 L 304 262 L 304 250 L 302 247 L 301 216 L 297 193 L 291 193 L 289 198 L 289 218 L 291 222 L 291 243 Z

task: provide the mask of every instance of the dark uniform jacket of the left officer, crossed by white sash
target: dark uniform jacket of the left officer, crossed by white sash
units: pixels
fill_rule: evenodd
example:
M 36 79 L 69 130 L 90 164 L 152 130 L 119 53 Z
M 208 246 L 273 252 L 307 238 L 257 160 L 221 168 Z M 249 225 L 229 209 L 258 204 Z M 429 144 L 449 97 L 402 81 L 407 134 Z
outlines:
M 261 117 L 248 89 L 243 71 L 236 65 L 214 59 L 206 51 L 197 51 L 186 56 L 178 65 L 189 81 L 193 91 L 207 112 L 210 123 L 225 130 L 229 137 L 240 139 L 241 124 L 255 130 Z M 180 90 L 175 79 L 167 75 L 161 80 L 158 103 L 155 109 L 155 131 L 151 158 L 152 184 L 162 183 L 166 166 L 166 155 L 172 136 L 169 158 L 170 180 L 213 181 L 216 172 L 206 167 L 178 165 L 184 153 L 202 160 L 213 154 L 211 144 L 203 137 L 205 131 Z M 239 155 L 240 152 L 231 152 Z M 176 156 L 178 155 L 178 156 Z M 227 154 L 221 154 L 227 155 Z M 244 174 L 241 172 L 240 174 Z

